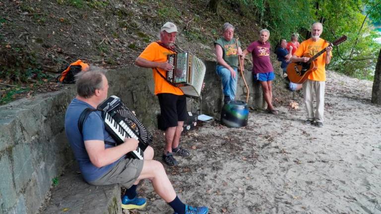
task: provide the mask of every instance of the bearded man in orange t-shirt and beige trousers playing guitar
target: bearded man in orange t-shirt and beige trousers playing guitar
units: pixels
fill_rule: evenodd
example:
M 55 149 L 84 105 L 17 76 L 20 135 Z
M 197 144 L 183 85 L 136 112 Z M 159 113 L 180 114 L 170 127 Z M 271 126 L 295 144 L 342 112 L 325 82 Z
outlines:
M 332 47 L 328 46 L 329 43 L 320 38 L 323 32 L 323 25 L 316 22 L 311 27 L 311 38 L 305 40 L 300 44 L 298 50 L 291 57 L 293 62 L 307 62 L 310 58 L 304 57 L 304 54 L 315 55 L 321 50 L 325 49 L 325 53 L 318 56 L 316 64 L 318 69 L 311 72 L 308 79 L 303 83 L 304 102 L 307 110 L 307 120 L 305 124 L 316 125 L 323 127 L 323 114 L 324 114 L 324 89 L 325 89 L 325 65 L 329 64 L 332 58 Z M 316 94 L 316 110 L 314 113 L 314 97 L 313 92 Z

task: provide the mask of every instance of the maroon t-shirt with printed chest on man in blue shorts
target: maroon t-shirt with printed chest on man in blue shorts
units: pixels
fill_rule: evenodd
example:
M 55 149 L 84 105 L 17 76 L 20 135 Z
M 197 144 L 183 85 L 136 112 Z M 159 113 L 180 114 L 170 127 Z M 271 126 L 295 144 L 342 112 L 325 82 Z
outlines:
M 262 44 L 258 41 L 253 42 L 247 48 L 253 56 L 253 73 L 267 73 L 274 71 L 270 62 L 270 43 Z

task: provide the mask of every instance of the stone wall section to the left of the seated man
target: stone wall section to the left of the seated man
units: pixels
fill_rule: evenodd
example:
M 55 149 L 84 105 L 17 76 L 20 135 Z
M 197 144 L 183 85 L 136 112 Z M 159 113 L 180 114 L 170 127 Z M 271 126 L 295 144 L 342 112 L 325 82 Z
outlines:
M 71 89 L 0 107 L 0 213 L 34 214 L 72 161 L 64 136 Z

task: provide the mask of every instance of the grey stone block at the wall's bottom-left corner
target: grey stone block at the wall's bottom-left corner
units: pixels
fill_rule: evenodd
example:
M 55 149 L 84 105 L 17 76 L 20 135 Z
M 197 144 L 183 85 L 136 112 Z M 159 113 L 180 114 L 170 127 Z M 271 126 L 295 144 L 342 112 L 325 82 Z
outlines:
M 0 208 L 4 212 L 7 212 L 16 204 L 17 200 L 17 193 L 12 178 L 12 166 L 7 154 L 3 154 L 0 157 L 0 169 L 2 172 L 0 179 Z

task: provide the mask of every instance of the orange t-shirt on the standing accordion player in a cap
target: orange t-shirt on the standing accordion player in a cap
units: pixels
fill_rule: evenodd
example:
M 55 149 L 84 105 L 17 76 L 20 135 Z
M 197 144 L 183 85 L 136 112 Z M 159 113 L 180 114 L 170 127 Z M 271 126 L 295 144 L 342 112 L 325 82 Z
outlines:
M 148 61 L 154 62 L 165 62 L 167 61 L 167 55 L 175 54 L 175 52 L 164 48 L 163 46 L 153 42 L 144 49 L 144 51 L 139 55 L 139 57 L 146 59 Z M 159 72 L 166 77 L 167 71 L 157 68 Z M 153 79 L 155 80 L 155 95 L 160 93 L 169 93 L 174 95 L 184 95 L 180 88 L 175 87 L 167 82 L 162 76 L 160 76 L 155 68 L 152 68 Z

